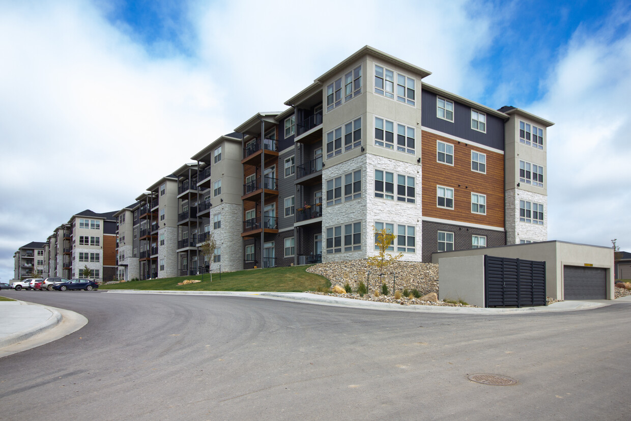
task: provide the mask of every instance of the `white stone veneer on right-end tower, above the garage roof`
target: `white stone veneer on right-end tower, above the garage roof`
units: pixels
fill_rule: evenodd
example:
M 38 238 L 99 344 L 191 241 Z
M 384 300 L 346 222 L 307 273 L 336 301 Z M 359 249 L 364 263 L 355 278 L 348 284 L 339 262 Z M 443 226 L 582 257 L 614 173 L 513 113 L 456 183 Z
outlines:
M 521 189 L 505 191 L 506 244 L 519 244 L 519 240 L 548 240 L 548 196 Z M 543 204 L 543 225 L 519 220 L 519 201 Z

